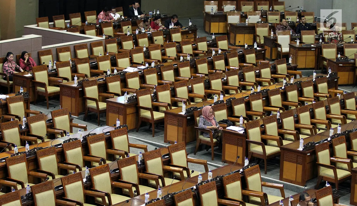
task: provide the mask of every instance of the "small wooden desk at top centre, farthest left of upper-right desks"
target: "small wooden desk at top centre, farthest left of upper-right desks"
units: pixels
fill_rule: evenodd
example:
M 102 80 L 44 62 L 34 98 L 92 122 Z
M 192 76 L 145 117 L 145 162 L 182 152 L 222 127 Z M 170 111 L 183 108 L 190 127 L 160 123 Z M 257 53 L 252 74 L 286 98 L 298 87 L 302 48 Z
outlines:
M 203 30 L 207 34 L 225 34 L 227 33 L 226 22 L 226 12 L 219 12 L 215 14 L 211 14 L 211 12 L 205 12 L 205 17 L 203 19 Z

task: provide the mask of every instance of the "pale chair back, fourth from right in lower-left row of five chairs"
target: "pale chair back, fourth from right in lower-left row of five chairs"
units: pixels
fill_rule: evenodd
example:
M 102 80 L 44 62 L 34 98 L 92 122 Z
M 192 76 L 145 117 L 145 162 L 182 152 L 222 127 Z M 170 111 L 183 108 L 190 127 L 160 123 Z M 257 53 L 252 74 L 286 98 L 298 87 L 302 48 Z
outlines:
M 40 170 L 52 172 L 54 175 L 58 175 L 58 161 L 55 147 L 48 147 L 46 149 L 37 150 L 36 156 Z

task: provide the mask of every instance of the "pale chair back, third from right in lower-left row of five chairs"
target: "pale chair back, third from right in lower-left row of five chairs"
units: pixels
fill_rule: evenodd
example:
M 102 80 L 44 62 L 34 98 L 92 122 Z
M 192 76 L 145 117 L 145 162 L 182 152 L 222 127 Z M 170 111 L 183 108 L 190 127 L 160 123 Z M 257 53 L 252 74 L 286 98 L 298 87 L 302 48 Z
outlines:
M 81 140 L 71 141 L 62 144 L 66 162 L 83 167 L 83 151 Z

